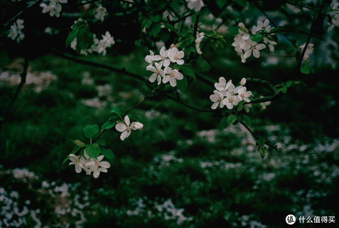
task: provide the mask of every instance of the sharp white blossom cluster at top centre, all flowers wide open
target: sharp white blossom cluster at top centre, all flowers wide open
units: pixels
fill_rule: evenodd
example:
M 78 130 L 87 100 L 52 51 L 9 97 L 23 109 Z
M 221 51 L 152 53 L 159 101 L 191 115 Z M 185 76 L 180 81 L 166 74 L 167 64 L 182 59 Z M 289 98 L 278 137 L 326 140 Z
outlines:
M 165 46 L 162 46 L 160 49 L 160 55 L 154 55 L 153 51 L 149 50 L 148 56 L 145 57 L 145 61 L 148 64 L 146 70 L 150 70 L 153 72 L 151 77 L 149 77 L 150 82 L 155 82 L 157 80 L 158 85 L 162 82 L 171 84 L 171 86 L 176 86 L 177 81 L 184 78 L 184 76 L 177 70 L 169 67 L 169 64 L 177 63 L 178 65 L 184 64 L 184 52 L 179 51 L 178 48 L 172 47 L 170 49 L 165 50 Z M 159 61 L 159 62 L 155 62 Z M 153 66 L 153 64 L 155 66 Z M 161 69 L 164 66 L 164 69 Z

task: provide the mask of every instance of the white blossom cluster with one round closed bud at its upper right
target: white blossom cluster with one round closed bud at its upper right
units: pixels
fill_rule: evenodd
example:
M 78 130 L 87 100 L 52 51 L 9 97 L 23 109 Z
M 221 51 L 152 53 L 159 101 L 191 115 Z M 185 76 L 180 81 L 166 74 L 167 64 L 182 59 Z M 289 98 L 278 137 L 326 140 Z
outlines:
M 210 96 L 210 100 L 213 101 L 212 109 L 216 109 L 218 106 L 223 108 L 225 105 L 228 109 L 232 109 L 233 106 L 238 105 L 240 101 L 250 102 L 250 97 L 252 95 L 251 91 L 246 91 L 244 87 L 246 79 L 243 78 L 240 81 L 240 85 L 235 87 L 232 83 L 232 80 L 226 82 L 224 77 L 219 78 L 219 83 L 215 83 L 214 94 Z M 236 96 L 237 95 L 237 96 Z

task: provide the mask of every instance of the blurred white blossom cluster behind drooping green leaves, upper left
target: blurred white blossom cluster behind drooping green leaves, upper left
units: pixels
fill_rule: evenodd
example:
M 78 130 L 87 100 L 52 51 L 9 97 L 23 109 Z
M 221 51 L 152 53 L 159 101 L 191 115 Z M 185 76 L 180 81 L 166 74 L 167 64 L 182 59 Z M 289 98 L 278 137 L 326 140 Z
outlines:
M 97 52 L 98 54 L 102 53 L 102 55 L 105 56 L 107 52 L 106 48 L 111 47 L 113 44 L 115 44 L 115 41 L 108 31 L 105 33 L 105 35 L 101 35 L 101 36 L 102 36 L 102 39 L 99 40 L 98 38 L 96 38 L 96 35 L 93 34 L 94 44 L 86 50 L 81 50 L 80 54 L 87 56 L 88 53 L 93 53 L 94 51 L 94 52 Z M 71 48 L 73 50 L 76 50 L 76 46 L 77 46 L 77 38 L 74 38 L 74 40 L 71 42 Z

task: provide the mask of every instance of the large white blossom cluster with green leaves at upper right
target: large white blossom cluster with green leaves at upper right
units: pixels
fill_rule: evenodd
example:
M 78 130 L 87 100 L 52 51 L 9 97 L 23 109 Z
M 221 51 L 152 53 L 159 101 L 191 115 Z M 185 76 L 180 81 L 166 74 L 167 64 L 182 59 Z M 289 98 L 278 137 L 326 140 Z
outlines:
M 257 26 L 252 27 L 252 31 L 248 31 L 245 27 L 244 23 L 240 22 L 238 26 L 240 27 L 238 32 L 239 34 L 235 35 L 234 42 L 232 46 L 234 46 L 235 51 L 237 52 L 238 56 L 241 57 L 241 62 L 245 63 L 246 59 L 253 55 L 255 58 L 260 57 L 260 50 L 266 47 L 266 43 L 270 48 L 270 51 L 274 51 L 274 46 L 277 42 L 274 41 L 272 38 L 273 34 L 265 35 L 262 37 L 263 43 L 258 43 L 253 41 L 250 38 L 250 33 L 253 35 L 262 34 L 262 33 L 269 33 L 272 29 L 270 25 L 268 25 L 270 21 L 265 20 L 264 22 L 258 21 Z

